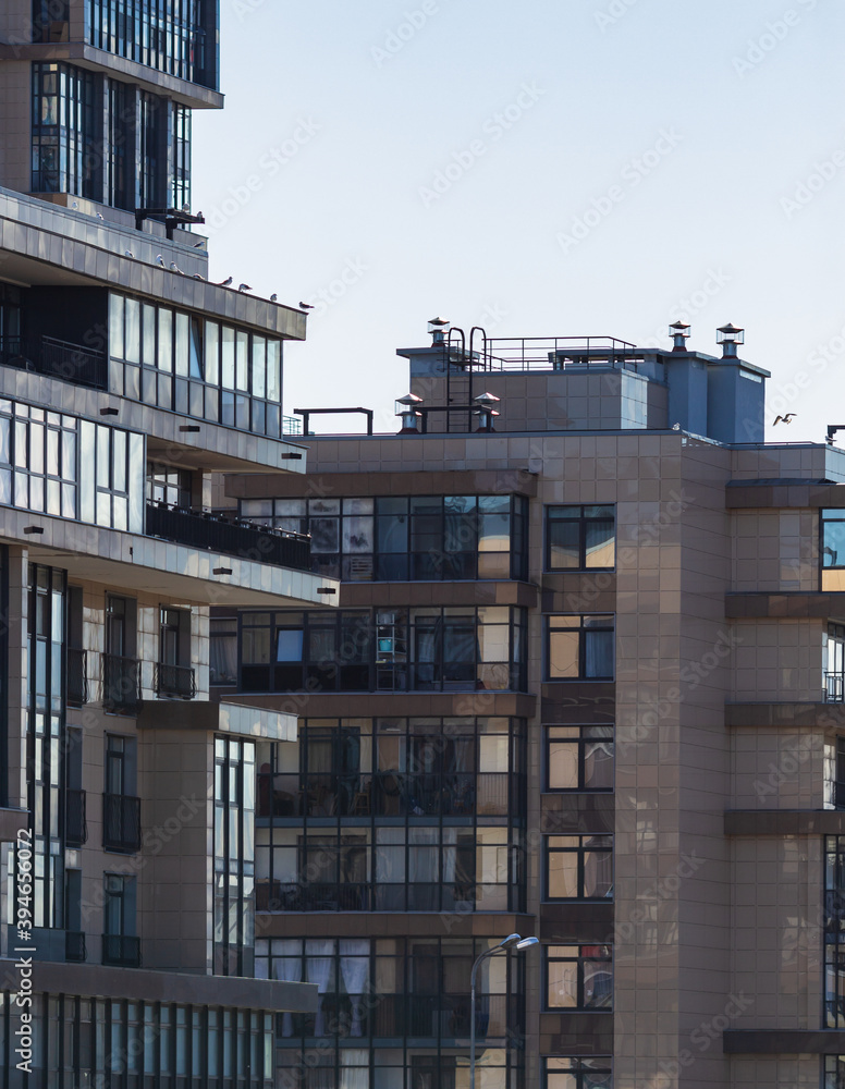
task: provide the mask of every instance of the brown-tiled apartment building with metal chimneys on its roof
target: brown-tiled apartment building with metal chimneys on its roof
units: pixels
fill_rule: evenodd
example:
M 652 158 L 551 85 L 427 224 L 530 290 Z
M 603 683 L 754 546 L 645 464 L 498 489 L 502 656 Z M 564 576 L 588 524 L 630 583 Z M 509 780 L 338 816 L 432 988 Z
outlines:
M 228 482 L 341 579 L 215 612 L 217 690 L 299 718 L 256 757 L 257 974 L 319 989 L 280 1084 L 468 1089 L 475 1029 L 485 1089 L 842 1089 L 845 454 L 763 442 L 733 326 L 431 332 L 400 433 L 306 417 L 306 477 Z

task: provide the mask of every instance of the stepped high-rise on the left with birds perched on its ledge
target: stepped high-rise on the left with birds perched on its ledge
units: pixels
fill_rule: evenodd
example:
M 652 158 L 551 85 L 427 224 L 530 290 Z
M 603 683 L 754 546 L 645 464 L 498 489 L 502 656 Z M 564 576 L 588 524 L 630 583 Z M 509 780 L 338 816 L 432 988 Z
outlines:
M 306 465 L 305 315 L 208 283 L 189 231 L 217 36 L 212 0 L 0 10 L 3 1089 L 271 1085 L 316 1003 L 254 970 L 256 750 L 296 719 L 209 699 L 212 605 L 336 600 L 306 538 L 217 510 Z

